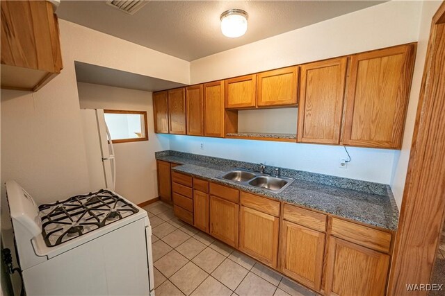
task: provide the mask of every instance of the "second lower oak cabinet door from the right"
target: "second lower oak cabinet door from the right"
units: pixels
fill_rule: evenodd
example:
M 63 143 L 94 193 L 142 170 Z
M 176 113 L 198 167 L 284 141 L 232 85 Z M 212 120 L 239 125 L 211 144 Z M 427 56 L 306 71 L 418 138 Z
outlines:
M 283 220 L 281 271 L 314 290 L 320 290 L 325 234 Z

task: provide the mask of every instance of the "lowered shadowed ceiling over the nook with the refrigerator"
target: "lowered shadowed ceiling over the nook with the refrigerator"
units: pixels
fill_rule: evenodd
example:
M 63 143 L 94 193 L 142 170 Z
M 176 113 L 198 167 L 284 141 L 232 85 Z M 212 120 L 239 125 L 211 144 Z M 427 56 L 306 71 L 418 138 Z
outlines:
M 146 92 L 156 92 L 184 86 L 177 82 L 101 67 L 95 64 L 86 64 L 84 62 L 76 61 L 74 62 L 74 67 L 76 68 L 77 81 L 95 85 L 139 89 Z

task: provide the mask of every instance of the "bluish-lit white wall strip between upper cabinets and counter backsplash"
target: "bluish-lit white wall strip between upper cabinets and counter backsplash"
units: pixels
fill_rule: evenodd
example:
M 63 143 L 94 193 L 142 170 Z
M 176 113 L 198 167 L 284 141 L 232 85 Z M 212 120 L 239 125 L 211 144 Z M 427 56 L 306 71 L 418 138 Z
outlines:
M 394 162 L 393 150 L 348 147 L 353 160 L 344 169 L 339 167 L 339 159 L 347 159 L 343 146 L 178 135 L 170 135 L 170 149 L 385 184 Z

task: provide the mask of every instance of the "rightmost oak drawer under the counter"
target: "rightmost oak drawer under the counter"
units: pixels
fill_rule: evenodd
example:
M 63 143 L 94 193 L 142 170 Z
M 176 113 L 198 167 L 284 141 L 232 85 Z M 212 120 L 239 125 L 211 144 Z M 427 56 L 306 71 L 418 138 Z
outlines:
M 373 250 L 389 252 L 391 234 L 378 229 L 332 218 L 331 234 Z

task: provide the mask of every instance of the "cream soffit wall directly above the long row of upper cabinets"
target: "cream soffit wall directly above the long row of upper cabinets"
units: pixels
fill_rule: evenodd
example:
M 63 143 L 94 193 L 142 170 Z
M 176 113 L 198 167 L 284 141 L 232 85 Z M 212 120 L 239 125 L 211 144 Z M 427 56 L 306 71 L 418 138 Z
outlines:
M 191 62 L 191 83 L 415 42 L 421 1 L 389 1 Z

